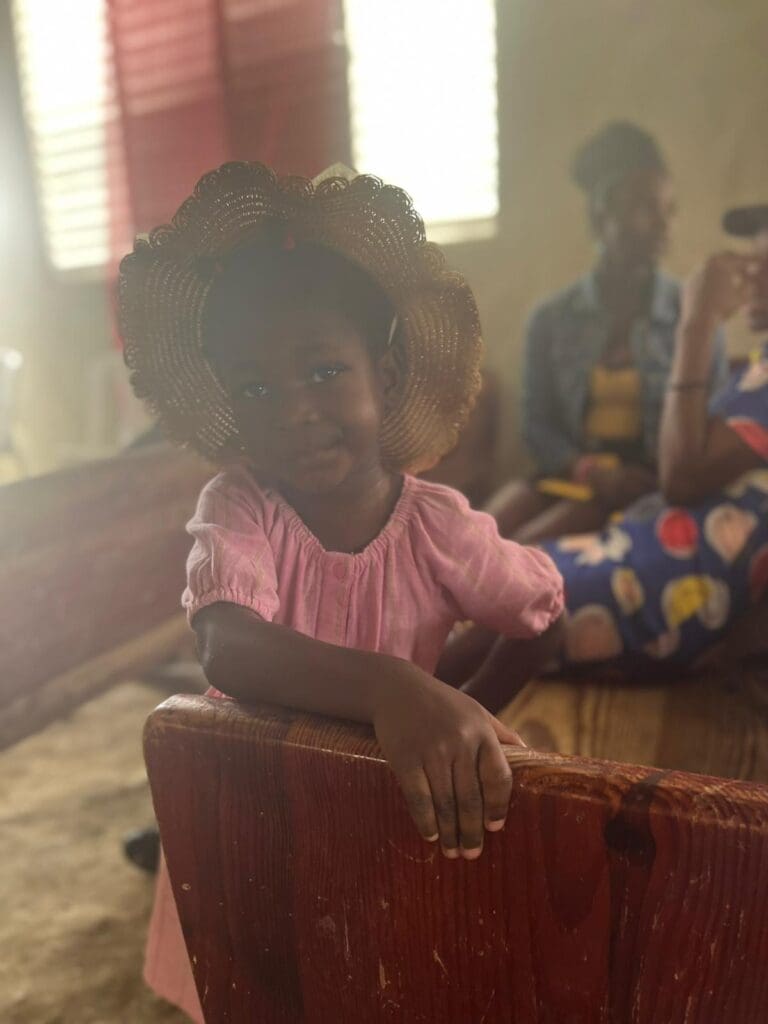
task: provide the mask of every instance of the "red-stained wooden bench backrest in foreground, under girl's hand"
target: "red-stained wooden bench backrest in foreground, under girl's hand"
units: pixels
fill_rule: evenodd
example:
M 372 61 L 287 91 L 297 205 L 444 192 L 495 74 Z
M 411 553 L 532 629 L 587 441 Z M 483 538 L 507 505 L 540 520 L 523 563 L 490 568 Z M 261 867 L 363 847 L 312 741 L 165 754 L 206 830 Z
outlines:
M 212 1024 L 759 1024 L 768 788 L 509 750 L 473 863 L 370 730 L 174 697 L 145 757 Z

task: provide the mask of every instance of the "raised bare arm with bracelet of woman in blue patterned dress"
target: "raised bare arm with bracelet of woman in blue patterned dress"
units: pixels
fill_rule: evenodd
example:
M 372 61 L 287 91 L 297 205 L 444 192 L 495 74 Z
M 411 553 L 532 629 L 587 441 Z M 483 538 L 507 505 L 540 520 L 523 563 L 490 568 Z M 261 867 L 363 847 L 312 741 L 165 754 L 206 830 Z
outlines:
M 709 415 L 713 338 L 722 321 L 750 300 L 755 270 L 753 258 L 720 253 L 686 282 L 659 439 L 659 480 L 671 504 L 694 504 L 762 465 L 734 431 Z

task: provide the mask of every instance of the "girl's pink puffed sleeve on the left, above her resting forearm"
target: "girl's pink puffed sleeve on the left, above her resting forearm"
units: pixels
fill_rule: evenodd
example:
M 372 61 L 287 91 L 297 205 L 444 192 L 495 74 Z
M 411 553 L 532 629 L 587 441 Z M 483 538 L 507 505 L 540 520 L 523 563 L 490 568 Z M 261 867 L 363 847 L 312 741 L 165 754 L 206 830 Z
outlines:
M 280 607 L 274 557 L 258 504 L 237 476 L 222 473 L 206 484 L 186 529 L 195 539 L 181 598 L 188 622 L 217 601 L 271 622 Z

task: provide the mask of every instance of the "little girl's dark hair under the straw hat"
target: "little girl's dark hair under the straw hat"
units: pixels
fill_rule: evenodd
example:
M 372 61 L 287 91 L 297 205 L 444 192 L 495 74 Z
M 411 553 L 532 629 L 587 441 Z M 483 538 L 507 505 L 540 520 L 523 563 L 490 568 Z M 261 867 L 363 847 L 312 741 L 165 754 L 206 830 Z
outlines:
M 293 303 L 339 312 L 372 352 L 384 350 L 394 309 L 383 289 L 352 260 L 328 246 L 296 240 L 290 225 L 264 230 L 212 268 L 203 312 L 203 347 L 215 358 L 218 340 L 270 310 Z

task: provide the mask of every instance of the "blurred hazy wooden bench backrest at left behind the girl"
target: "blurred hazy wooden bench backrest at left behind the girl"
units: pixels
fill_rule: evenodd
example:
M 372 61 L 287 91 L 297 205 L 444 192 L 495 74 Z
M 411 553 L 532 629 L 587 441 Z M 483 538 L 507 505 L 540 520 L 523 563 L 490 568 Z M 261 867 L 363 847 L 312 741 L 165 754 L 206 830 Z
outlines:
M 0 748 L 109 674 L 79 667 L 153 630 L 156 649 L 178 637 L 184 524 L 212 474 L 161 444 L 0 487 Z

